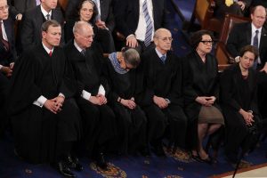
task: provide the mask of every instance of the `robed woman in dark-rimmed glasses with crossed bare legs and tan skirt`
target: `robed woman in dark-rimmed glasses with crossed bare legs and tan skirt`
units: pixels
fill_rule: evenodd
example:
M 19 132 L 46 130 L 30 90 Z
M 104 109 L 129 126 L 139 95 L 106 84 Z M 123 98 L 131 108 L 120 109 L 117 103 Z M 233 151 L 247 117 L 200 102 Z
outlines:
M 218 63 L 210 54 L 213 36 L 200 30 L 190 38 L 193 51 L 182 61 L 185 113 L 189 118 L 189 147 L 193 158 L 210 163 L 202 141 L 213 134 L 223 122 L 217 104 L 219 95 Z M 198 151 L 198 152 L 197 152 Z

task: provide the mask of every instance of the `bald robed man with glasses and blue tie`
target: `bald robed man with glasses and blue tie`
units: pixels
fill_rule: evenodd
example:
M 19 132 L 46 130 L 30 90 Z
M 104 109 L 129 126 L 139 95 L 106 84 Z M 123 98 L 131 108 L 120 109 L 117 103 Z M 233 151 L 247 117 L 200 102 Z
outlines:
M 182 69 L 179 59 L 169 50 L 172 34 L 159 28 L 154 35 L 155 49 L 143 53 L 144 84 L 146 87 L 142 109 L 149 119 L 149 142 L 155 153 L 164 155 L 161 139 L 166 127 L 169 147 L 184 148 L 187 117 L 182 110 Z

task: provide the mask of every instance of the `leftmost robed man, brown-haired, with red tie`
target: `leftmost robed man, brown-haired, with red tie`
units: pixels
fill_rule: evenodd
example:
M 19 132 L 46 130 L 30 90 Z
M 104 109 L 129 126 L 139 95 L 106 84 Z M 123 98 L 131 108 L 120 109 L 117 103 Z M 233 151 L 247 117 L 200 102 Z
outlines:
M 42 43 L 16 63 L 9 111 L 16 153 L 32 163 L 56 163 L 61 174 L 73 177 L 69 167 L 82 169 L 69 155 L 79 138 L 80 117 L 71 98 L 76 87 L 67 76 L 71 73 L 58 47 L 60 40 L 61 25 L 55 20 L 44 22 Z

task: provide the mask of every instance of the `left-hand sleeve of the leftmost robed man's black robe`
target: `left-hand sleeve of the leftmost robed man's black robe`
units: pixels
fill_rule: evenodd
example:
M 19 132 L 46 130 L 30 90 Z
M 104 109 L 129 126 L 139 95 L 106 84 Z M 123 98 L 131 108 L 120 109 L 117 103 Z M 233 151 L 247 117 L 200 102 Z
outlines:
M 29 51 L 20 56 L 12 74 L 9 94 L 9 111 L 11 115 L 19 113 L 42 95 L 36 81 L 41 77 L 41 63 L 34 60 Z

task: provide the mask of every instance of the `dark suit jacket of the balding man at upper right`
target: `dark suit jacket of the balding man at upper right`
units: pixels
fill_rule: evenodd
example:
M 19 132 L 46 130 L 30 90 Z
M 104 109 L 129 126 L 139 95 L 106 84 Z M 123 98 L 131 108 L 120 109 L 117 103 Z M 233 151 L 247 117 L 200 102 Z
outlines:
M 240 49 L 247 45 L 251 44 L 251 23 L 240 23 L 236 24 L 232 29 L 227 40 L 226 48 L 233 57 L 239 56 Z M 267 61 L 267 30 L 262 28 L 261 41 L 260 41 L 260 58 L 262 64 Z

